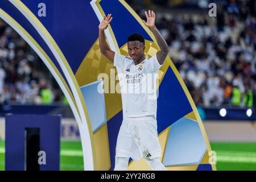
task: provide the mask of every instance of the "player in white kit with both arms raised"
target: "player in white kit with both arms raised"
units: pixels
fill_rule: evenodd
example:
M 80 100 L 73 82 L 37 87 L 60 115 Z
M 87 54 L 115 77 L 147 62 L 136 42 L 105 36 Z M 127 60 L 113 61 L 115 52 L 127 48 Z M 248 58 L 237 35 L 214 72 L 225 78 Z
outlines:
M 155 93 L 149 93 L 148 90 L 154 85 L 153 90 L 156 92 L 154 75 L 166 60 L 168 46 L 155 26 L 154 11 L 145 11 L 145 14 L 147 21 L 142 21 L 150 28 L 160 47 L 156 55 L 147 59 L 144 55 L 144 38 L 139 34 L 131 34 L 127 38 L 130 57 L 120 55 L 109 48 L 104 30 L 113 19 L 111 14 L 104 16 L 98 26 L 101 53 L 112 61 L 115 67 L 122 69 L 125 73 L 125 86 L 129 88 L 129 92 L 122 93 L 125 95 L 125 118 L 118 133 L 114 170 L 126 170 L 129 158 L 144 158 L 152 169 L 166 170 L 159 159 L 161 147 L 156 122 L 157 98 Z

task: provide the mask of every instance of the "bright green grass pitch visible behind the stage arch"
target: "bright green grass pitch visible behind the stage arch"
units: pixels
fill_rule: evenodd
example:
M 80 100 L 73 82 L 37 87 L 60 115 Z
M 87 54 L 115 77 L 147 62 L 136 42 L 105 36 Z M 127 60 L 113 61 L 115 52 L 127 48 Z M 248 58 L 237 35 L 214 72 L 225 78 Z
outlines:
M 256 170 L 256 143 L 211 142 L 217 170 Z M 61 141 L 60 169 L 83 170 L 81 142 Z M 0 140 L 0 170 L 5 169 L 5 142 Z

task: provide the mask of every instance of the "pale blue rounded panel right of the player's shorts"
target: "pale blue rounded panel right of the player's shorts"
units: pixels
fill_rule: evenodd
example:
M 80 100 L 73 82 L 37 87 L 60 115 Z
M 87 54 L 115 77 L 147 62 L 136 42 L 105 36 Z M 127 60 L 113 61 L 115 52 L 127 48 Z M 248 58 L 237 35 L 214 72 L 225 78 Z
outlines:
M 163 164 L 199 164 L 206 150 L 199 123 L 183 117 L 171 125 Z

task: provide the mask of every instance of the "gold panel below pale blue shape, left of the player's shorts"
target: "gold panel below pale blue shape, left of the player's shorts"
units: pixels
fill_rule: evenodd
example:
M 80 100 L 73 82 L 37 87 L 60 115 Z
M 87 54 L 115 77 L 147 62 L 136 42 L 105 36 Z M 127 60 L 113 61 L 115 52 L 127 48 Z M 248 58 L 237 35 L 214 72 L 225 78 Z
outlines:
M 111 164 L 106 123 L 93 134 L 93 138 L 96 151 L 96 170 L 109 170 Z

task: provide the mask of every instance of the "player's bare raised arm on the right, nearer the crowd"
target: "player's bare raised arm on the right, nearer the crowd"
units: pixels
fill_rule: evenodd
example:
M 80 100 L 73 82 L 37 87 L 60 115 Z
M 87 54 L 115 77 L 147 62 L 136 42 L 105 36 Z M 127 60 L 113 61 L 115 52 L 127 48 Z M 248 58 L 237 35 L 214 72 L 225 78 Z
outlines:
M 150 30 L 152 31 L 152 33 L 155 36 L 156 42 L 158 43 L 158 46 L 160 47 L 160 51 L 158 51 L 156 53 L 156 57 L 158 58 L 159 64 L 162 65 L 168 55 L 169 47 L 168 47 L 166 41 L 164 40 L 163 36 L 158 31 L 158 28 L 156 28 L 156 26 L 155 26 L 154 11 L 148 10 L 148 14 L 147 14 L 147 11 L 145 11 L 145 15 L 147 17 L 147 22 L 145 22 L 144 20 L 142 20 L 142 22 L 145 24 L 146 27 L 150 28 Z

